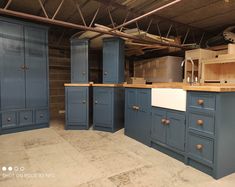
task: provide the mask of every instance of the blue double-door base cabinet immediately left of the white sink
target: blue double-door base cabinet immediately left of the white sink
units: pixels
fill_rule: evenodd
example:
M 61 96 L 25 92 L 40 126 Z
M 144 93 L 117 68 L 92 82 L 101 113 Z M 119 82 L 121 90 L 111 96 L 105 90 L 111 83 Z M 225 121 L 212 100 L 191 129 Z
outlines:
M 125 88 L 125 135 L 150 145 L 151 89 Z

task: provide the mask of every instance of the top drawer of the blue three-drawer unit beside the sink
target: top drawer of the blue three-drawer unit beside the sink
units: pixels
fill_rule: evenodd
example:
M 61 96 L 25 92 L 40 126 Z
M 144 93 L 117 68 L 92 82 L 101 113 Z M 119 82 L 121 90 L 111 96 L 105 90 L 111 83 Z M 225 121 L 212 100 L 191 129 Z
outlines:
M 190 108 L 215 110 L 215 99 L 214 94 L 191 92 L 189 93 L 188 106 Z

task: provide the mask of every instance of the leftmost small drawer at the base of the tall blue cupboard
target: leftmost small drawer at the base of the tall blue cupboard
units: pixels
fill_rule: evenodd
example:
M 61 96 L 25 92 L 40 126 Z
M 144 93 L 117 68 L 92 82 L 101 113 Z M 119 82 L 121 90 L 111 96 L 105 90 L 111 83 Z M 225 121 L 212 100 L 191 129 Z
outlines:
M 2 128 L 11 128 L 17 126 L 16 112 L 3 112 L 2 113 Z

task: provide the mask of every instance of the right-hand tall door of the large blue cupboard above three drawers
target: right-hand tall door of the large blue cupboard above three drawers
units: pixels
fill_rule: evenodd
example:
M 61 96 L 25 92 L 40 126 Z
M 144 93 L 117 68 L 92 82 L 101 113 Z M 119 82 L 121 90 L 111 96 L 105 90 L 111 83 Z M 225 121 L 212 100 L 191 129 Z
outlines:
M 47 32 L 25 27 L 26 107 L 48 106 Z

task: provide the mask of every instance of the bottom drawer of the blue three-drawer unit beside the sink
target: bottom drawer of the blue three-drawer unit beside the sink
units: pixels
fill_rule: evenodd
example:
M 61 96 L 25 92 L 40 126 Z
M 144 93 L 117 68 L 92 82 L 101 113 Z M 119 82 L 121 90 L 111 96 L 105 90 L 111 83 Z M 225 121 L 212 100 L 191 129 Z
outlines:
M 190 133 L 188 136 L 188 153 L 189 157 L 211 165 L 214 157 L 214 142 L 212 139 Z

